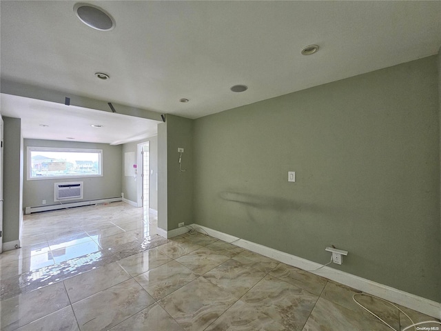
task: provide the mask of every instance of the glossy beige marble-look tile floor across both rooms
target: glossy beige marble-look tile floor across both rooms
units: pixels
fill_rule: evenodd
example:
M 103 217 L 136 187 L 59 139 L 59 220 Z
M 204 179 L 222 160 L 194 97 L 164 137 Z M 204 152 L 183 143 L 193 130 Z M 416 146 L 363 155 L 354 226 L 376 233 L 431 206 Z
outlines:
M 203 234 L 163 239 L 156 226 L 125 203 L 26 215 L 23 247 L 0 255 L 0 330 L 391 330 L 352 288 Z M 359 301 L 396 330 L 410 324 Z

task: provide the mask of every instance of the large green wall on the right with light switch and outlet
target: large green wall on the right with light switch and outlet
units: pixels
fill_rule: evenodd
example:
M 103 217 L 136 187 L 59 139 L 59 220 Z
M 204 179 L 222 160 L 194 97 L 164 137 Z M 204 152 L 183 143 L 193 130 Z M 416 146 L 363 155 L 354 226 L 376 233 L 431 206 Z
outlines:
M 440 302 L 437 61 L 196 119 L 196 223 Z

